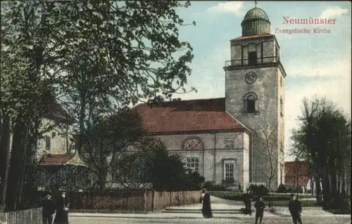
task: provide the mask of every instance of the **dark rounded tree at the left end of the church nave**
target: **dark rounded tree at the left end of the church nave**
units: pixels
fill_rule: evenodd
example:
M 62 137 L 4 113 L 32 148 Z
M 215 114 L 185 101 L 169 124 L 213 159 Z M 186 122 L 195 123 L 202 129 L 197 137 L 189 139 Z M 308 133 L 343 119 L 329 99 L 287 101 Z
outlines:
M 128 107 L 96 119 L 99 120 L 84 133 L 81 156 L 98 178 L 100 190 L 104 190 L 111 167 L 128 147 L 142 140 L 144 131 L 139 114 Z

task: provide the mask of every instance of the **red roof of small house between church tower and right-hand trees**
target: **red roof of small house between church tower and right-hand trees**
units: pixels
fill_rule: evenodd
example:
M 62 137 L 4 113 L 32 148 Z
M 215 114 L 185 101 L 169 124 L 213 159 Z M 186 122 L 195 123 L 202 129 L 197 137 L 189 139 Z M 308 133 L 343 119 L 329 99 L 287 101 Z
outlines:
M 309 164 L 306 162 L 285 162 L 285 185 L 307 185 L 310 179 Z

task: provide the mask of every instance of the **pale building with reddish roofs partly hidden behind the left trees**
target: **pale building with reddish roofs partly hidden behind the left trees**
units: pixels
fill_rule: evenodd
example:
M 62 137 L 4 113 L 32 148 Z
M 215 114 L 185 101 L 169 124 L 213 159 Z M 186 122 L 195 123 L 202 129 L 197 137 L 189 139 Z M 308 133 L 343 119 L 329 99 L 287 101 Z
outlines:
M 75 166 L 85 166 L 82 159 L 75 152 L 72 128 L 73 118 L 63 110 L 63 107 L 54 104 L 51 113 L 42 119 L 43 138 L 37 142 L 34 157 L 41 168 L 39 188 L 52 185 L 64 185 L 75 176 Z M 68 173 L 71 173 L 68 176 Z

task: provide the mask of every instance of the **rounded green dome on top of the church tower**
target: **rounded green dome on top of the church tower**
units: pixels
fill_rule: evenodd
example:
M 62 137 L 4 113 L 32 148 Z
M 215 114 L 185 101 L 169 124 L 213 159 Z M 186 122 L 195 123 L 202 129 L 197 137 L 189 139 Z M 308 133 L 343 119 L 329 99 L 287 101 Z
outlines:
M 249 10 L 241 22 L 242 36 L 270 34 L 270 20 L 261 8 Z

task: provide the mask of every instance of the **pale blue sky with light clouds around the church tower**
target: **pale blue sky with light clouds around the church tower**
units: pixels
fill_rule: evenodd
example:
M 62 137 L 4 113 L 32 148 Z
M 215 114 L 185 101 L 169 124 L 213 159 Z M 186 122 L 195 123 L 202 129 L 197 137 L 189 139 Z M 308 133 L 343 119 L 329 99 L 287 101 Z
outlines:
M 254 1 L 191 1 L 178 11 L 184 22 L 196 26 L 180 29 L 180 39 L 194 48 L 192 74 L 187 86 L 197 93 L 175 95 L 182 100 L 225 97 L 225 72 L 230 60 L 230 39 L 241 36 L 241 20 Z M 351 117 L 351 2 L 258 1 L 270 19 L 271 33 L 281 46 L 285 78 L 286 160 L 291 149 L 291 130 L 298 127 L 304 97 L 325 96 Z M 283 18 L 334 18 L 335 25 L 287 25 Z M 279 34 L 275 29 L 327 28 L 330 34 Z

